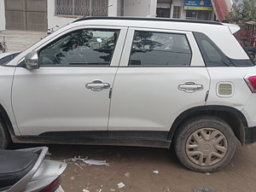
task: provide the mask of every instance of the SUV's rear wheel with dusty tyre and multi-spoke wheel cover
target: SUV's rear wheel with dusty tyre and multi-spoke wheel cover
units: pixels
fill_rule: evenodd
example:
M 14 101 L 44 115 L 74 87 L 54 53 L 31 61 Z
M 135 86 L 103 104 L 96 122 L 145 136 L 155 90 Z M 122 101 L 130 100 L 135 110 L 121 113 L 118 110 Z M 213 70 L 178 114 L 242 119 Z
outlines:
M 174 144 L 177 158 L 195 172 L 218 171 L 236 151 L 236 137 L 230 125 L 215 116 L 187 120 L 179 127 Z

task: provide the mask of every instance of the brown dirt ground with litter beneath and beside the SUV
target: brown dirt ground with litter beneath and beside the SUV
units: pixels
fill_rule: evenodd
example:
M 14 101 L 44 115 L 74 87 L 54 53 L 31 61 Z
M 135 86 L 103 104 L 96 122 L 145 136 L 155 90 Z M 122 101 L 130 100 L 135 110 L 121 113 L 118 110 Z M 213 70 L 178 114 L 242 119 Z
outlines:
M 172 151 L 162 148 L 49 145 L 49 151 L 53 160 L 80 155 L 109 163 L 89 166 L 79 160 L 67 161 L 61 183 L 66 192 L 191 192 L 201 187 L 214 192 L 256 191 L 256 143 L 246 147 L 238 144 L 230 164 L 211 174 L 189 171 Z M 118 183 L 125 187 L 118 189 Z

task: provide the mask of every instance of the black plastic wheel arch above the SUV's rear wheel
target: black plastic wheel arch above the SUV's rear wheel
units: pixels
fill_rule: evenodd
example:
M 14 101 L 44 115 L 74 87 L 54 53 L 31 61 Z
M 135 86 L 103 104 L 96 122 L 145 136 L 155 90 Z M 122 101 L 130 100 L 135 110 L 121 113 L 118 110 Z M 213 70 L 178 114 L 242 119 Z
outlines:
M 187 119 L 199 116 L 202 114 L 209 114 L 217 116 L 218 118 L 224 119 L 224 121 L 230 125 L 231 129 L 234 131 L 236 138 L 240 141 L 242 145 L 245 144 L 245 130 L 247 127 L 247 119 L 236 108 L 231 108 L 227 106 L 201 106 L 195 108 L 189 108 L 188 110 L 180 113 L 174 120 L 172 127 L 169 131 L 167 140 L 172 141 L 178 127 L 183 124 Z

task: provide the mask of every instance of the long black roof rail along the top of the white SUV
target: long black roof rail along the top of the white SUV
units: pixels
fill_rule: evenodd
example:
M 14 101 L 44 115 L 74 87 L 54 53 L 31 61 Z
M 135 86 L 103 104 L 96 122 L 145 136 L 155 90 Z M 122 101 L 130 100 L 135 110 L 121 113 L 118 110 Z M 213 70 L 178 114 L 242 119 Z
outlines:
M 154 17 L 92 17 L 92 16 L 84 16 L 78 20 L 74 20 L 74 22 L 78 22 L 81 20 L 154 20 L 154 21 L 172 21 L 172 22 L 184 22 L 184 23 L 201 23 L 201 24 L 211 24 L 211 25 L 223 25 L 217 21 L 211 20 L 181 20 L 181 19 L 167 19 L 167 18 L 154 18 Z

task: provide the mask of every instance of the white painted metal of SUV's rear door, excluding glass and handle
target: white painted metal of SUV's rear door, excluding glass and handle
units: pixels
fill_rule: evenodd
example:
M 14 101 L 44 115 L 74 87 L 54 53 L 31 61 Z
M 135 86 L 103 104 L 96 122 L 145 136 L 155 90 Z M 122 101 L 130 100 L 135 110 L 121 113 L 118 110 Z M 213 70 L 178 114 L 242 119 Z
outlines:
M 135 31 L 183 34 L 192 51 L 190 67 L 129 67 L 131 44 Z M 209 74 L 191 32 L 131 27 L 124 54 L 113 84 L 108 131 L 170 131 L 179 113 L 205 105 L 210 85 Z M 203 90 L 185 92 L 179 84 L 195 82 Z M 178 102 L 177 102 L 178 101 Z M 193 101 L 193 102 L 191 102 Z

